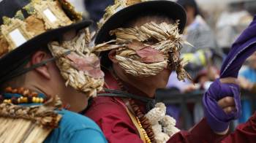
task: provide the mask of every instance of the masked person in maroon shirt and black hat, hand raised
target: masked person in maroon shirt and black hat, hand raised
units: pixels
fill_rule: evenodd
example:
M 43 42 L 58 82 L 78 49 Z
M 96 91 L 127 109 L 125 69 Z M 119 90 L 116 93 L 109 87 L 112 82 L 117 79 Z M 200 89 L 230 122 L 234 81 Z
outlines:
M 221 110 L 236 118 L 234 93 L 207 98 L 213 101 L 210 113 L 189 132 L 179 131 L 176 120 L 165 115 L 165 104 L 155 100 L 155 91 L 165 88 L 172 70 L 178 80 L 189 78 L 179 56 L 186 20 L 184 9 L 173 1 L 115 1 L 106 9 L 95 39 L 95 51 L 105 50 L 105 92 L 91 101 L 86 116 L 99 125 L 108 142 L 218 142 L 227 134 L 229 123 L 215 116 Z M 229 85 L 233 78 L 218 81 Z

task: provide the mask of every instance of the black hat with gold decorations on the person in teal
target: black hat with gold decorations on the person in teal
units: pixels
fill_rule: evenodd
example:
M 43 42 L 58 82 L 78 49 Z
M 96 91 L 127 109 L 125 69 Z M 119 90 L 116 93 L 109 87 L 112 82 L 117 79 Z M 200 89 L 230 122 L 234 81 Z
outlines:
M 8 45 L 9 50 L 4 53 L 4 55 L 0 55 L 0 78 L 14 70 L 15 67 L 23 61 L 24 57 L 39 50 L 42 45 L 47 45 L 48 42 L 59 39 L 67 31 L 73 29 L 80 30 L 91 24 L 90 20 L 80 20 L 77 22 L 78 19 L 82 17 L 75 12 L 73 7 L 71 7 L 67 1 L 42 1 L 42 4 L 38 4 L 38 7 L 33 7 L 33 4 L 31 4 L 32 2 L 33 0 L 3 0 L 0 2 L 0 54 L 4 48 L 4 46 L 1 46 L 1 42 L 4 40 L 6 44 L 10 44 Z M 34 4 L 35 3 L 36 1 L 34 1 Z M 40 9 L 45 11 L 40 12 Z M 58 9 L 59 11 L 57 11 Z M 48 17 L 44 16 L 44 12 L 45 15 L 55 16 L 55 18 L 53 18 L 53 23 L 49 23 L 48 20 L 45 20 L 45 18 Z M 31 31 L 26 31 L 28 30 L 28 27 L 26 27 L 28 26 L 28 23 L 25 23 L 25 21 L 29 17 L 36 18 L 39 21 L 41 20 L 41 22 L 44 21 L 44 31 L 40 34 L 33 34 Z M 63 20 L 61 18 L 63 18 Z M 13 29 L 10 28 L 10 26 L 12 26 L 12 20 L 14 19 L 15 22 L 21 23 L 20 29 L 19 27 Z M 67 23 L 63 23 L 63 21 L 67 21 Z M 7 29 L 4 29 L 4 26 L 7 27 Z M 16 25 L 13 26 L 15 27 Z M 19 29 L 20 32 L 17 34 L 15 29 Z M 10 34 L 12 31 L 15 31 L 17 35 L 10 37 L 10 34 L 6 34 L 8 30 L 10 31 Z M 27 32 L 27 34 L 23 35 L 24 31 L 22 30 Z M 29 35 L 29 38 L 20 43 L 20 45 L 16 42 L 18 46 L 11 47 L 12 42 L 10 38 L 20 38 L 20 34 L 22 39 L 24 39 L 24 37 L 26 38 L 26 35 Z

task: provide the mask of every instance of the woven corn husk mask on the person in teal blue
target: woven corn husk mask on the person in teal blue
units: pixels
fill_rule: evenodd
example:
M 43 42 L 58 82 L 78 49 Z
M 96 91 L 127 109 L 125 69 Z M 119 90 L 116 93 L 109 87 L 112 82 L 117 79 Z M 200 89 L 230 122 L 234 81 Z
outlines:
M 68 42 L 51 42 L 48 47 L 53 56 L 58 57 L 56 64 L 66 85 L 90 97 L 102 90 L 104 73 L 100 69 L 99 58 L 88 46 L 91 40 L 88 34 L 83 30 Z

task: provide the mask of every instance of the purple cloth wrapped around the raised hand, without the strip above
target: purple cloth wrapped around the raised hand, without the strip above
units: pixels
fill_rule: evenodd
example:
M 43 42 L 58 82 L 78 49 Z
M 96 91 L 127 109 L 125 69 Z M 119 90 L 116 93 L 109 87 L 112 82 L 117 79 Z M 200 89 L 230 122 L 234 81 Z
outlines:
M 236 111 L 226 114 L 217 101 L 227 96 L 235 99 Z M 239 86 L 233 83 L 221 83 L 215 80 L 203 95 L 203 106 L 208 125 L 215 132 L 225 131 L 231 120 L 241 115 L 241 101 Z

